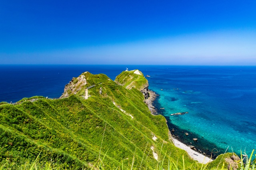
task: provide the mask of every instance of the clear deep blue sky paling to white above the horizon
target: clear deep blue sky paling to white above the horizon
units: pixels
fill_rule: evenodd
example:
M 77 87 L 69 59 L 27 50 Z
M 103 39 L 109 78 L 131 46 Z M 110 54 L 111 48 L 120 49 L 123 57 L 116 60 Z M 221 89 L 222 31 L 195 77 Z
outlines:
M 256 0 L 1 0 L 0 64 L 256 65 Z

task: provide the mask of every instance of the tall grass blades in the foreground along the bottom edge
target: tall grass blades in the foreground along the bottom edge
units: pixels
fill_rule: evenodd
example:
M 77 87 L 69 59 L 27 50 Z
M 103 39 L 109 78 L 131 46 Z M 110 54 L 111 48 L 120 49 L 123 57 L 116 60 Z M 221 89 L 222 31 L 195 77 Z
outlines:
M 256 170 L 256 167 L 255 167 L 256 158 L 254 160 L 252 160 L 253 152 L 254 152 L 254 150 L 250 154 L 249 158 L 247 155 L 243 157 L 242 152 L 241 152 L 241 160 L 237 161 L 237 163 L 238 163 L 237 170 Z M 72 169 L 72 168 L 64 168 L 61 164 L 55 164 L 53 162 L 46 162 L 45 164 L 41 164 L 40 161 L 38 160 L 39 156 L 40 156 L 40 154 L 37 156 L 37 158 L 34 162 L 32 162 L 32 163 L 26 162 L 25 164 L 22 164 L 20 166 L 17 166 L 15 163 L 6 162 L 2 166 L 0 166 L 0 170 L 5 170 L 5 169 L 16 169 L 16 170 Z M 95 170 L 95 169 L 96 170 L 107 170 L 108 168 L 106 168 L 105 164 L 104 164 L 105 156 L 106 156 L 106 154 L 103 156 L 103 158 L 99 158 L 95 164 L 90 165 L 90 167 L 83 167 L 82 170 Z M 135 155 L 133 157 L 132 164 L 127 168 L 124 168 L 124 166 L 122 164 L 122 166 L 112 167 L 111 169 L 113 169 L 113 170 L 134 170 L 134 169 L 140 170 L 140 169 L 142 169 L 141 164 L 140 164 L 140 166 L 138 164 L 137 165 L 134 164 L 134 159 L 135 159 Z M 162 158 L 162 160 L 157 162 L 156 168 L 154 170 L 166 170 L 166 169 L 164 169 L 164 166 L 163 166 L 165 159 L 166 159 L 166 155 Z M 224 169 L 227 169 L 224 162 L 223 163 L 217 162 L 218 166 L 215 168 L 210 168 L 208 166 L 209 162 L 207 164 L 198 164 L 197 162 L 194 162 L 194 164 L 191 164 L 190 166 L 186 166 L 185 161 L 184 161 L 184 155 L 182 156 L 182 163 L 183 163 L 182 166 L 180 166 L 176 161 L 173 161 L 170 158 L 168 158 L 167 170 L 191 170 L 191 169 L 195 169 L 195 170 L 208 170 L 208 169 L 224 170 Z M 219 166 L 221 163 L 222 163 L 222 165 Z M 232 167 L 231 167 L 231 169 L 232 169 Z

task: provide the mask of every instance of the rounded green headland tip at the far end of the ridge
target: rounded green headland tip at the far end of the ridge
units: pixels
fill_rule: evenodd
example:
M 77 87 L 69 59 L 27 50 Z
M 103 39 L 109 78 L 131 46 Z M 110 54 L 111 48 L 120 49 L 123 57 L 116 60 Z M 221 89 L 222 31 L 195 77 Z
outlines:
M 115 82 L 126 89 L 135 88 L 139 90 L 142 92 L 145 99 L 148 99 L 148 80 L 138 69 L 123 71 L 120 75 L 116 76 Z

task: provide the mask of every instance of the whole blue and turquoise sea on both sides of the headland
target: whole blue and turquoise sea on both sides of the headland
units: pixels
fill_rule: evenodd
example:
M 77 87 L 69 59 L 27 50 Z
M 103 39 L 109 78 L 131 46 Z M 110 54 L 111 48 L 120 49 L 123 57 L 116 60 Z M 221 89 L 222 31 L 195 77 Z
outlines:
M 215 155 L 227 148 L 236 153 L 256 149 L 256 67 L 0 65 L 0 101 L 16 102 L 35 95 L 60 97 L 72 77 L 84 71 L 104 73 L 114 80 L 126 67 L 151 76 L 146 78 L 149 88 L 159 95 L 155 101 L 158 113 L 182 142 L 191 142 L 208 154 L 216 148 Z M 178 112 L 188 114 L 170 115 Z

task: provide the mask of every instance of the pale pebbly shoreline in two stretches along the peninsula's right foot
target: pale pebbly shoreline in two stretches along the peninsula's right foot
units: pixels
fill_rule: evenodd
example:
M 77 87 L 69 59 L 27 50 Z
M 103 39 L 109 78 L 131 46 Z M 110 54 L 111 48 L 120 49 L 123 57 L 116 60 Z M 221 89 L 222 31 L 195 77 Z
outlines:
M 149 93 L 149 97 L 148 97 L 148 99 L 145 100 L 145 103 L 146 103 L 146 105 L 148 105 L 148 109 L 150 110 L 152 115 L 158 115 L 155 107 L 153 106 L 153 102 L 158 95 L 154 91 L 151 91 L 151 90 L 148 90 L 148 93 Z M 190 148 L 190 146 L 187 146 L 186 144 L 180 142 L 176 138 L 173 138 L 172 135 L 169 135 L 169 136 L 170 136 L 171 140 L 173 141 L 173 144 L 176 147 L 185 150 L 192 159 L 197 160 L 199 163 L 202 163 L 202 164 L 206 164 L 206 163 L 212 161 L 211 158 L 208 158 L 207 156 L 205 156 L 199 152 L 196 152 L 195 150 Z

